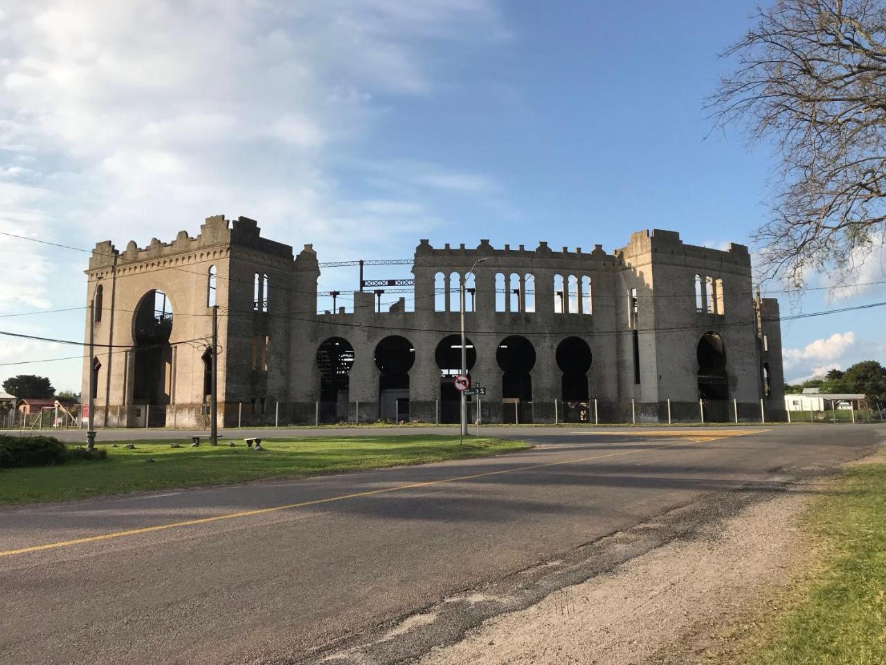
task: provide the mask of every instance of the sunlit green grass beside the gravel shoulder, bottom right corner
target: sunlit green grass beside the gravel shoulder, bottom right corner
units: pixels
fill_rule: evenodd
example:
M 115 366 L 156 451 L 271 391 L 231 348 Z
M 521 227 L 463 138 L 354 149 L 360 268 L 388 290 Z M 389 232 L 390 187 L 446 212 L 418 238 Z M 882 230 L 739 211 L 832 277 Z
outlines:
M 826 552 L 752 665 L 886 663 L 886 464 L 851 466 L 805 522 Z

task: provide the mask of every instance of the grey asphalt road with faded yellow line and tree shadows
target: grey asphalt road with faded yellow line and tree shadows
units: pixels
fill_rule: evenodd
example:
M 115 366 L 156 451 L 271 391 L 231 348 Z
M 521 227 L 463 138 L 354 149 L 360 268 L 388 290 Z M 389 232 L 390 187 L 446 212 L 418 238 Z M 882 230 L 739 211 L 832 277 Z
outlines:
M 727 505 L 886 439 L 884 426 L 501 431 L 539 447 L 0 509 L 0 662 L 317 661 L 454 594 L 516 586 L 519 571 L 602 536 Z M 440 639 L 457 637 L 450 622 Z M 389 642 L 378 662 L 397 661 Z

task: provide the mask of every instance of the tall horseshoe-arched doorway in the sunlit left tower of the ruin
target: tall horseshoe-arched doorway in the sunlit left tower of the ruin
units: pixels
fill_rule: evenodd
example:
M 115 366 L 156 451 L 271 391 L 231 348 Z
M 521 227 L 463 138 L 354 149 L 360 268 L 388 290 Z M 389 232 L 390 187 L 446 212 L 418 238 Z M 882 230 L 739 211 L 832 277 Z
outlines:
M 148 405 L 148 426 L 166 426 L 173 381 L 169 343 L 172 325 L 172 305 L 167 294 L 156 289 L 145 293 L 132 317 L 132 403 Z

